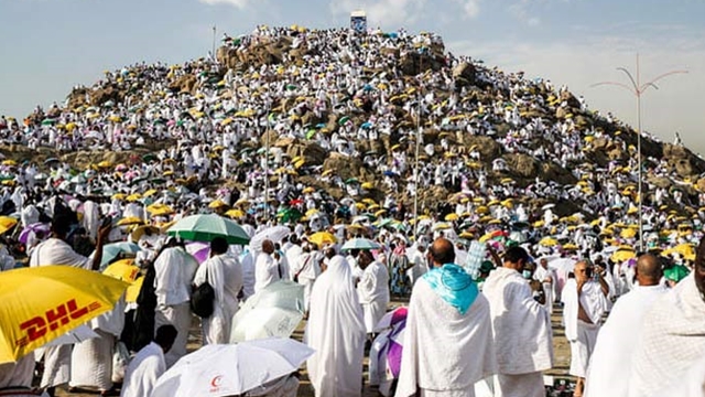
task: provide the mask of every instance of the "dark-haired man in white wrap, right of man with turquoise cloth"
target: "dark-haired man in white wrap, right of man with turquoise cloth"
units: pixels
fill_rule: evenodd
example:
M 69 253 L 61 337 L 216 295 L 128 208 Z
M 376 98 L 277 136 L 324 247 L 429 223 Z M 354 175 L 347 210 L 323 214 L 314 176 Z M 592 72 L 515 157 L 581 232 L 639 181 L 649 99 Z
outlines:
M 523 248 L 509 248 L 503 266 L 489 273 L 482 289 L 497 352 L 495 396 L 544 396 L 541 372 L 553 366 L 551 316 L 533 299 L 528 260 Z

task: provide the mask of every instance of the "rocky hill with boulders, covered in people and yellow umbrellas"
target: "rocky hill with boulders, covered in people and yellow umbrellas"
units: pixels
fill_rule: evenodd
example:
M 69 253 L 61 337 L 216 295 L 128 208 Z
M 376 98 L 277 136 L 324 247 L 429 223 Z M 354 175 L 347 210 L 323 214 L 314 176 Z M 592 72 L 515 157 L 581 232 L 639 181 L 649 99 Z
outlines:
M 401 152 L 413 165 L 420 129 L 421 162 L 429 164 L 429 180 L 433 168 L 444 164 L 445 172 L 459 169 L 459 174 L 469 175 L 475 187 L 479 170 L 495 185 L 510 179 L 519 189 L 535 189 L 541 182 L 558 189 L 581 186 L 585 194 L 577 201 L 555 196 L 562 214 L 589 213 L 585 200 L 599 186 L 614 183 L 621 191 L 634 185 L 634 130 L 604 116 L 606 111 L 587 108 L 567 89 L 452 56 L 430 33 L 356 35 L 297 26 L 273 32 L 224 40 L 217 65 L 198 60 L 116 71 L 93 87 L 72 92 L 64 107 L 25 120 L 29 129 L 41 128 L 47 118 L 80 117 L 93 109 L 101 119 L 117 117 L 111 122 L 124 128 L 135 125 L 132 129 L 147 138 L 137 151 L 82 154 L 44 148 L 36 157 L 36 151 L 8 144 L 0 151 L 18 160 L 59 157 L 85 167 L 110 155 L 139 159 L 174 144 L 148 136 L 160 119 L 176 127 L 183 120 L 197 128 L 207 122 L 218 131 L 238 125 L 262 131 L 259 141 L 242 140 L 240 149 L 257 150 L 269 141 L 290 159 L 303 161 L 295 178 L 305 185 L 341 197 L 339 185 L 318 178 L 333 170 L 343 180 L 373 184 L 365 192 L 368 196 L 394 194 L 409 202 L 404 186 L 412 180 L 411 168 L 390 173 L 397 189 L 381 183 L 382 170 L 390 170 Z M 182 115 L 165 110 L 174 98 L 184 106 Z M 334 138 L 351 141 L 357 154 L 334 150 Z M 657 187 L 677 189 L 695 203 L 705 192 L 705 161 L 687 148 L 649 137 L 641 143 L 647 198 Z M 423 189 L 422 202 L 446 202 L 459 189 L 458 181 Z M 539 194 L 532 206 L 550 201 Z M 671 198 L 666 202 L 677 212 L 690 211 Z

